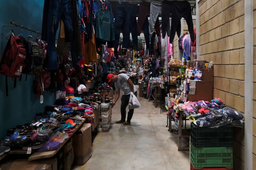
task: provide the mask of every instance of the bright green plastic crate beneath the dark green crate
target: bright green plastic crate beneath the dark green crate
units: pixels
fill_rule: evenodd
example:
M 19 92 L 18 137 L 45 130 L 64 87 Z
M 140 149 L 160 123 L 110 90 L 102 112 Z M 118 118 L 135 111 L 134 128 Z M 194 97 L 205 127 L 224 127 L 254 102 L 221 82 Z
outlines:
M 233 147 L 196 148 L 190 144 L 190 161 L 194 168 L 233 167 Z

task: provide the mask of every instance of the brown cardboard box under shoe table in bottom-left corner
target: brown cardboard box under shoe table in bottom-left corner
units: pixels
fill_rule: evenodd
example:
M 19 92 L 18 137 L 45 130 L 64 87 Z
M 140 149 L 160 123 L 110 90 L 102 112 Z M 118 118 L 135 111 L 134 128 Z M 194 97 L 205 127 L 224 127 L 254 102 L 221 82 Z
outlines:
M 28 159 L 7 160 L 0 165 L 1 170 L 57 170 L 57 158 L 28 161 Z

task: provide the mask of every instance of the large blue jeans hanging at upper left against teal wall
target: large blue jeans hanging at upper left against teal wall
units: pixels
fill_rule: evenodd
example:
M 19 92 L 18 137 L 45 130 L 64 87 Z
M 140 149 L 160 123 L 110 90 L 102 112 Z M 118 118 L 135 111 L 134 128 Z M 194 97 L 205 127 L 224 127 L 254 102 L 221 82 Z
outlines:
M 73 67 L 77 65 L 75 43 L 73 37 L 73 11 L 71 0 L 50 0 L 48 22 L 47 22 L 47 53 L 49 70 L 58 69 L 57 52 L 55 46 L 56 32 L 60 20 L 63 21 L 67 29 L 67 39 L 71 42 L 71 56 Z

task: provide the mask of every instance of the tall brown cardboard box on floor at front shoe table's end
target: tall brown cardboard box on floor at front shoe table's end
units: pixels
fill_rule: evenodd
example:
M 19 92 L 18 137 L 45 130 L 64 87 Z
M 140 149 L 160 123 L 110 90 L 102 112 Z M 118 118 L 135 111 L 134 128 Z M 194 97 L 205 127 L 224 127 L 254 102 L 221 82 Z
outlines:
M 92 125 L 84 123 L 73 135 L 74 165 L 84 165 L 92 157 Z

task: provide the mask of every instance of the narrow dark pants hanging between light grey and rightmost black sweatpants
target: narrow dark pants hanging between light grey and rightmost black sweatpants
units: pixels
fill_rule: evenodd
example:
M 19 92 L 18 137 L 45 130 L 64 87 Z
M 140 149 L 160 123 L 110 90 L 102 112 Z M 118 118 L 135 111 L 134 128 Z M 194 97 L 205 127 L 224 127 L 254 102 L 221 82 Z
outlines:
M 162 37 L 165 38 L 165 35 L 170 37 L 170 13 L 172 13 L 172 6 L 174 1 L 166 1 L 162 2 Z M 172 15 L 172 18 L 175 17 Z M 177 27 L 177 34 L 180 36 L 181 24 Z

